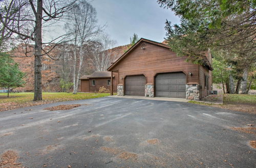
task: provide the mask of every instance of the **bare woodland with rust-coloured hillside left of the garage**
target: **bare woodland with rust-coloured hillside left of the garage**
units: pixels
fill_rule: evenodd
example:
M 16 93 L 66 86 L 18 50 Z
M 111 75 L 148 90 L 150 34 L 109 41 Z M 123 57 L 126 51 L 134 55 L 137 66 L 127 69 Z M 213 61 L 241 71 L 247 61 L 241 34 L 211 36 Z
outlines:
M 19 89 L 34 91 L 34 100 L 42 99 L 42 89 L 69 91 L 73 85 L 76 94 L 81 74 L 106 70 L 126 48 L 113 48 L 115 41 L 86 0 L 6 0 L 0 20 L 1 52 L 26 73 L 25 87 Z M 42 32 L 57 25 L 66 31 L 46 40 Z

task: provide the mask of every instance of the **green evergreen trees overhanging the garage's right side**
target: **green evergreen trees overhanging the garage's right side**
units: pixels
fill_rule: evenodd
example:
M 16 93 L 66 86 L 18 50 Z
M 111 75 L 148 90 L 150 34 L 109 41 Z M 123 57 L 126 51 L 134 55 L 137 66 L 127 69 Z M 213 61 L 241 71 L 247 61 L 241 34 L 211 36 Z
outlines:
M 158 0 L 181 23 L 166 21 L 166 41 L 179 56 L 204 64 L 204 51 L 214 57 L 214 83 L 224 93 L 255 89 L 255 1 Z

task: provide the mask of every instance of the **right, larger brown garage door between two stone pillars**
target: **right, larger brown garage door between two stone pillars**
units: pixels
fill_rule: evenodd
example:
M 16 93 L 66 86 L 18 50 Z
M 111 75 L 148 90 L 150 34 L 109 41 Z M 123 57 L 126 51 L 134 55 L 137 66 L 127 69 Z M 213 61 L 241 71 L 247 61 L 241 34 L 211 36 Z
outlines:
M 186 98 L 186 75 L 182 72 L 158 74 L 156 96 Z

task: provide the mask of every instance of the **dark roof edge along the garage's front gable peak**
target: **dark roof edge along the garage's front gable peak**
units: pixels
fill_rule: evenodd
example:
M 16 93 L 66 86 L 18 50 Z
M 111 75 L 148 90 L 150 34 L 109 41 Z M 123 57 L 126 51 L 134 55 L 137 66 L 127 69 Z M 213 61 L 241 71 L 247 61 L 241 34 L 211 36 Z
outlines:
M 170 49 L 170 47 L 166 44 L 163 44 L 163 43 L 159 43 L 159 42 L 156 42 L 156 41 L 152 41 L 152 40 L 148 40 L 148 39 L 143 39 L 141 38 L 139 41 L 137 41 L 137 43 L 135 43 L 129 50 L 127 50 L 124 54 L 122 54 L 122 56 L 117 59 L 109 68 L 108 68 L 108 71 L 110 71 L 113 67 L 116 66 L 116 64 L 118 64 L 131 50 L 133 50 L 141 41 L 145 41 L 145 42 L 148 42 L 148 43 L 152 43 L 152 44 L 156 44 L 156 45 L 159 45 L 159 46 L 162 46 L 162 47 L 165 47 L 165 48 L 168 48 Z

